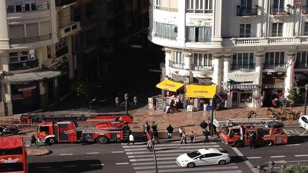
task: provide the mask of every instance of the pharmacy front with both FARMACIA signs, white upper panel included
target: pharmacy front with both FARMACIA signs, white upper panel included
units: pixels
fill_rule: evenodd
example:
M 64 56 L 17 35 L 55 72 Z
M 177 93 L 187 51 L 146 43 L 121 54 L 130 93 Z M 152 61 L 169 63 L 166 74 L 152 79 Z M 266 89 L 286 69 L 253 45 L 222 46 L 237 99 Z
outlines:
M 253 107 L 254 96 L 260 95 L 259 72 L 231 72 L 227 75 L 227 107 Z

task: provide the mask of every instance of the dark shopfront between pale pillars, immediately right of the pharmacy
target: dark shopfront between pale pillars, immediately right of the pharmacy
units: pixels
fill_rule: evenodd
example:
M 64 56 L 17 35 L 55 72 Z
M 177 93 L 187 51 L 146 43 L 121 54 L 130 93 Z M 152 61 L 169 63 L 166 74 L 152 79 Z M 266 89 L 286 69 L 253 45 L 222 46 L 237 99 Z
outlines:
M 285 73 L 263 73 L 261 90 L 263 96 L 263 106 L 276 106 L 275 104 L 279 102 L 279 99 L 284 97 L 284 83 Z

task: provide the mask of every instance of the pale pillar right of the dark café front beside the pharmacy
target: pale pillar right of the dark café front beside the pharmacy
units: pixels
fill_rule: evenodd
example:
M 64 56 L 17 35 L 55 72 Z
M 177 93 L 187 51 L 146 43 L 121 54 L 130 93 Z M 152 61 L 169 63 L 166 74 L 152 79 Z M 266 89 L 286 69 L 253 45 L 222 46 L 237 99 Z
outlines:
M 287 73 L 285 77 L 285 96 L 289 95 L 288 89 L 293 88 L 294 83 L 294 68 L 292 68 L 292 64 L 295 63 L 296 51 L 287 52 L 287 57 L 285 62 L 287 62 Z

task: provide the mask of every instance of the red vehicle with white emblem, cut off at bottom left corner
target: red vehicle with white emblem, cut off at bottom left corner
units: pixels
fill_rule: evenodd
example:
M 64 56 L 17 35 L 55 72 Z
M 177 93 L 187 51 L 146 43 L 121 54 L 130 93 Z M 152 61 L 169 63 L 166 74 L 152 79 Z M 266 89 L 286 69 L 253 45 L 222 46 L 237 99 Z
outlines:
M 28 172 L 27 153 L 23 137 L 0 137 L 0 172 Z

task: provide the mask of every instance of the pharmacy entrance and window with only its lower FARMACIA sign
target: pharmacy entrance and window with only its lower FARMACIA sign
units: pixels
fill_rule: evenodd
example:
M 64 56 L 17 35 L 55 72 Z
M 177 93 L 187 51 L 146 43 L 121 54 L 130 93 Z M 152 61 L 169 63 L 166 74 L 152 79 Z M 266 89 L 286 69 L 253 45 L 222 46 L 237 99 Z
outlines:
M 230 85 L 233 107 L 253 107 L 253 95 L 261 86 L 259 85 Z

